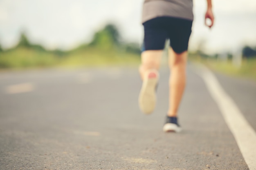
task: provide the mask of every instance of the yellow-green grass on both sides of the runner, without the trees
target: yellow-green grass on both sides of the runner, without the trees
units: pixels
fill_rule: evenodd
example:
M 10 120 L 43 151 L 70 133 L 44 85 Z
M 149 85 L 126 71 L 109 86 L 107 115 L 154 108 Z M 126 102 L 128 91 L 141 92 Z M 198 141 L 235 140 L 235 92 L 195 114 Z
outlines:
M 252 78 L 256 81 L 256 58 L 243 60 L 240 67 L 231 60 L 222 61 L 191 55 L 190 60 L 200 62 L 209 68 L 224 74 Z M 102 67 L 102 66 L 137 66 L 139 54 L 128 53 L 118 49 L 86 48 L 65 53 L 40 51 L 24 47 L 9 51 L 0 51 L 0 70 L 30 69 L 46 67 Z

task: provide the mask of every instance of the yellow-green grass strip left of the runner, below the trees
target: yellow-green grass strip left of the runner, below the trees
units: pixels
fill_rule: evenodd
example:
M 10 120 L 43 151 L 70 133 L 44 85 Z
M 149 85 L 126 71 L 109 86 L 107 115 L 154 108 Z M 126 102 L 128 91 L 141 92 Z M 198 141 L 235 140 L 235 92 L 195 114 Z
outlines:
M 59 55 L 50 51 L 17 48 L 0 52 L 0 69 L 29 69 L 45 67 L 95 67 L 138 65 L 139 55 L 117 49 L 87 48 Z

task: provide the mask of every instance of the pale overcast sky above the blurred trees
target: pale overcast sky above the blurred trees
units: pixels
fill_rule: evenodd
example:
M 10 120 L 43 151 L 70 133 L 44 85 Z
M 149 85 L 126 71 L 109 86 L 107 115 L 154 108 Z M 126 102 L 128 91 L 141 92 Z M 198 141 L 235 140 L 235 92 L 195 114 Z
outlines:
M 204 26 L 206 0 L 193 0 L 194 21 L 189 49 L 206 53 L 238 52 L 256 47 L 256 0 L 212 0 L 215 25 Z M 141 44 L 143 0 L 0 0 L 0 44 L 17 44 L 21 31 L 47 49 L 72 49 L 90 42 L 108 23 L 122 38 Z

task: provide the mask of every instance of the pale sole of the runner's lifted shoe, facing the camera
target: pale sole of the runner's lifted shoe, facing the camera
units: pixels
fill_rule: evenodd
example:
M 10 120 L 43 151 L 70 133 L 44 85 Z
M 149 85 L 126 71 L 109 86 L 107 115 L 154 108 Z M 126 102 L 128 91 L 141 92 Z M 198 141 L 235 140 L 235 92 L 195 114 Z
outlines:
M 155 77 L 149 78 L 150 74 L 155 74 Z M 156 105 L 156 86 L 158 83 L 159 74 L 157 70 L 149 70 L 142 83 L 139 93 L 139 108 L 144 114 L 150 114 L 154 111 Z

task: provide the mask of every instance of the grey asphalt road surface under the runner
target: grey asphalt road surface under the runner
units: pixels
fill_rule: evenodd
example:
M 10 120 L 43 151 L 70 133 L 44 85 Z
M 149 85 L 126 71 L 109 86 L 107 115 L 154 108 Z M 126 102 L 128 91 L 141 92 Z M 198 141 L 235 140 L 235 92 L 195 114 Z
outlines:
M 188 68 L 183 131 L 164 133 L 168 69 L 152 115 L 137 69 L 0 73 L 1 170 L 249 170 L 202 78 Z M 216 74 L 256 130 L 256 83 Z M 256 160 L 256 158 L 255 158 Z

